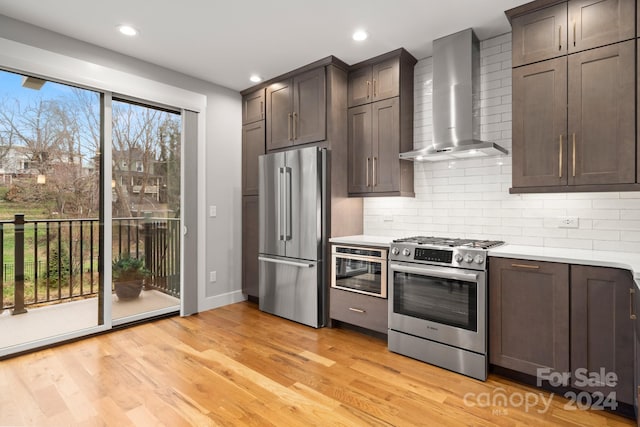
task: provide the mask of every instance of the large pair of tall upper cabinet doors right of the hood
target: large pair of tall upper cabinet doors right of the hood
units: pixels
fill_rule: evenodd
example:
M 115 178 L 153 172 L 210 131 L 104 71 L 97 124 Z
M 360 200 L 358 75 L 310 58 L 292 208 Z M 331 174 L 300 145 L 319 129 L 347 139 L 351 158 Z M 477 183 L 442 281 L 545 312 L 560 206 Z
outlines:
M 514 188 L 635 182 L 634 64 L 631 40 L 513 69 Z

